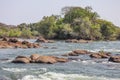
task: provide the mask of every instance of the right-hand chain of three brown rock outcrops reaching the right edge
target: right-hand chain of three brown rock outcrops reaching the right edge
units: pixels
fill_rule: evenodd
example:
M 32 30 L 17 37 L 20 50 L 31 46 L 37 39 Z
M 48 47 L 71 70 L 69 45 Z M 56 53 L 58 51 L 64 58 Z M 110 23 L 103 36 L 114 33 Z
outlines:
M 70 53 L 63 54 L 62 56 L 79 56 L 79 55 L 88 55 L 90 58 L 104 59 L 107 58 L 108 61 L 120 63 L 120 55 L 113 56 L 110 52 L 99 51 L 89 52 L 87 50 L 74 50 Z

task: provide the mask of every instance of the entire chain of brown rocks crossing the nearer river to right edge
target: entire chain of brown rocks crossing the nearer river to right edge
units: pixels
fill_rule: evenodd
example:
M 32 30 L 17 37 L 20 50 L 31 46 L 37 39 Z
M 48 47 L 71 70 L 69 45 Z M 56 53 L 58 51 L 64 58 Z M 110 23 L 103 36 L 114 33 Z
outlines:
M 54 64 L 57 62 L 65 63 L 65 62 L 68 62 L 71 60 L 75 60 L 77 58 L 76 57 L 75 59 L 73 59 L 73 58 L 69 58 L 69 56 L 79 56 L 79 55 L 87 55 L 91 59 L 92 58 L 108 59 L 108 61 L 120 63 L 119 55 L 113 56 L 110 52 L 99 51 L 97 53 L 94 53 L 94 52 L 89 52 L 87 50 L 74 50 L 68 54 L 62 55 L 66 58 L 59 58 L 59 57 L 55 57 L 55 56 L 43 56 L 43 55 L 39 55 L 39 54 L 32 54 L 30 57 L 17 56 L 12 61 L 12 63 L 45 63 L 45 64 Z M 82 59 L 80 59 L 80 60 L 82 60 Z

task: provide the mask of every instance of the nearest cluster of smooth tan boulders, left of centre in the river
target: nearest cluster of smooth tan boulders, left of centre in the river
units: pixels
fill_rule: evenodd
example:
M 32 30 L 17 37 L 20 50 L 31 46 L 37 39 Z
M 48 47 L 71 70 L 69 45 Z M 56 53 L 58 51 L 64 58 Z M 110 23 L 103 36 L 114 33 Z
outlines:
M 39 54 L 32 54 L 30 57 L 18 56 L 12 63 L 44 63 L 44 64 L 54 64 L 54 63 L 65 63 L 68 62 L 66 58 L 59 58 L 55 56 L 42 56 Z

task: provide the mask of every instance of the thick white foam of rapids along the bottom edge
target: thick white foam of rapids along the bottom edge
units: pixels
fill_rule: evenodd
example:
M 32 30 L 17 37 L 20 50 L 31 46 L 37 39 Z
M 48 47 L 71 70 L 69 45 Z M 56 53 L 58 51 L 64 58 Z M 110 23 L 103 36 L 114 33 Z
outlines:
M 97 76 L 85 76 L 81 74 L 62 74 L 55 72 L 47 72 L 38 76 L 26 75 L 22 79 L 18 80 L 120 80 L 114 78 L 97 77 Z

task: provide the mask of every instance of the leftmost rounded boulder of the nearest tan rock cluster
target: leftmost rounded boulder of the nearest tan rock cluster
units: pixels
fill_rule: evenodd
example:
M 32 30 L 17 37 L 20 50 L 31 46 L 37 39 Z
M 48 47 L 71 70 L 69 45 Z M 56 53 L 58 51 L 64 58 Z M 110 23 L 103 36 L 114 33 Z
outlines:
M 30 58 L 25 56 L 17 56 L 15 60 L 12 61 L 12 63 L 30 63 Z

